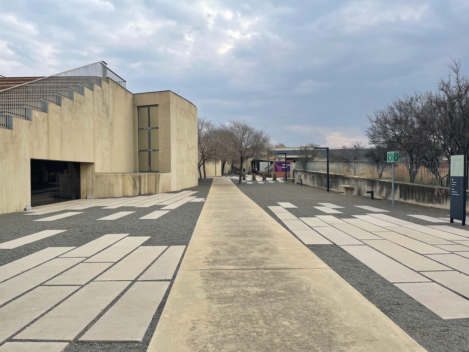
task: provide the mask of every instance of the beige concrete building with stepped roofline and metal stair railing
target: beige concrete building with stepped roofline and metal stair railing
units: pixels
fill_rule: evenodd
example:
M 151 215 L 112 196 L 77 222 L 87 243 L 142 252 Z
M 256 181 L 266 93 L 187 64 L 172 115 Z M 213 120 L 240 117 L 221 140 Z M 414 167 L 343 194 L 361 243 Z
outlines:
M 104 61 L 0 77 L 0 213 L 197 185 L 197 108 L 133 94 Z

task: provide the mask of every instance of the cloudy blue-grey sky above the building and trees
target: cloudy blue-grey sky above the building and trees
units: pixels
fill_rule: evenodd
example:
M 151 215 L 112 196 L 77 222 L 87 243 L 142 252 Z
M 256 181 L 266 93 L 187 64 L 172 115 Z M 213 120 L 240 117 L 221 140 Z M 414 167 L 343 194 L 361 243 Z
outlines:
M 0 75 L 96 61 L 274 143 L 367 142 L 366 114 L 469 73 L 469 0 L 0 0 Z

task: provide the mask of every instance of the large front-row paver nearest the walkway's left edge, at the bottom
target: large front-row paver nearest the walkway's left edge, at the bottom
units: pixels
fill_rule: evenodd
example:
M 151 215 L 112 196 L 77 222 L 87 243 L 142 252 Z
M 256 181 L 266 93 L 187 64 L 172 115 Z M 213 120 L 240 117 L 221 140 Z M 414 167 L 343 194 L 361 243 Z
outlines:
M 142 341 L 169 282 L 136 282 L 81 341 Z

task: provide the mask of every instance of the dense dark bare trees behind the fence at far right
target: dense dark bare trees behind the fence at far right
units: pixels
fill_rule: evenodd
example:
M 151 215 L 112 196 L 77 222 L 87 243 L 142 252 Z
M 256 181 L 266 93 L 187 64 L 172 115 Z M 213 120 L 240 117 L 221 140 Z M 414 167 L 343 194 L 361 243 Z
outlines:
M 412 178 L 420 162 L 469 153 L 469 77 L 461 73 L 461 61 L 453 59 L 448 67 L 452 74 L 440 79 L 435 92 L 404 94 L 367 115 L 366 134 L 376 147 L 371 159 L 385 160 L 387 150 L 399 151 L 413 161 Z M 439 177 L 434 164 L 431 172 Z

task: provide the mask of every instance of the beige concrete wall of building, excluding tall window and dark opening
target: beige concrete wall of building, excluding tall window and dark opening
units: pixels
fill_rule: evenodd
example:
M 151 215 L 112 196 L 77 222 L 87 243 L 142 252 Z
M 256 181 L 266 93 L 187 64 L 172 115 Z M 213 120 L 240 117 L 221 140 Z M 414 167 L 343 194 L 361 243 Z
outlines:
M 159 174 L 138 176 L 136 107 L 159 105 Z M 0 129 L 0 214 L 30 204 L 30 159 L 80 162 L 80 195 L 119 197 L 197 185 L 197 108 L 173 92 L 132 94 L 107 79 Z M 163 175 L 163 173 L 165 173 Z M 142 193 L 143 192 L 143 193 Z

